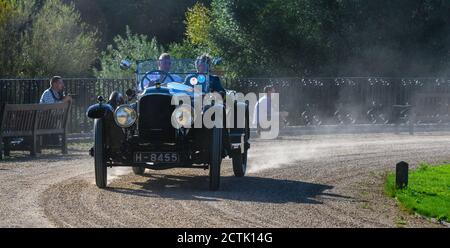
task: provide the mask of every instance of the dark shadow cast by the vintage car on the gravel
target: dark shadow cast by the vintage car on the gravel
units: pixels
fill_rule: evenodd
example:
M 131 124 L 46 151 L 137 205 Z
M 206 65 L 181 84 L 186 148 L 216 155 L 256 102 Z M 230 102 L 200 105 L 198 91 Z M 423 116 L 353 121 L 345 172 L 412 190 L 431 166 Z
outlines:
M 205 176 L 148 175 L 146 182 L 134 182 L 139 189 L 114 187 L 107 190 L 140 197 L 161 197 L 173 200 L 220 201 L 234 200 L 260 203 L 321 204 L 319 196 L 346 198 L 325 191 L 332 186 L 260 177 L 222 177 L 217 192 L 208 191 Z

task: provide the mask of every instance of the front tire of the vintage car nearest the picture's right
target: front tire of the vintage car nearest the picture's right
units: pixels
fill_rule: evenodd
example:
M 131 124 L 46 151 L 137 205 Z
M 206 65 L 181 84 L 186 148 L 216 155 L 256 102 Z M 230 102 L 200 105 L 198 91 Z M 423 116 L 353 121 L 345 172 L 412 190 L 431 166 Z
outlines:
M 222 129 L 213 128 L 210 137 L 209 189 L 216 191 L 220 186 L 220 165 L 222 163 Z

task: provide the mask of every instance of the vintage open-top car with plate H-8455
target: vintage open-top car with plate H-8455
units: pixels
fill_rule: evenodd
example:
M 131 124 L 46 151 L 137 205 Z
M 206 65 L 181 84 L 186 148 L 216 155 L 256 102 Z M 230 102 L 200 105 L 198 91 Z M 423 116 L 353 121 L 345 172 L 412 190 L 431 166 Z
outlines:
M 131 166 L 138 175 L 146 168 L 183 167 L 209 169 L 209 188 L 217 190 L 227 156 L 235 176 L 243 177 L 250 148 L 248 102 L 236 99 L 233 91 L 214 92 L 217 77 L 209 70 L 198 73 L 195 60 L 172 61 L 177 65 L 170 73 L 156 69 L 156 64 L 138 61 L 136 89 L 126 96 L 114 92 L 108 101 L 99 96 L 87 110 L 95 119 L 90 154 L 97 186 L 106 187 L 108 167 Z M 131 63 L 122 61 L 120 66 L 127 69 Z M 205 115 L 223 125 L 208 126 Z

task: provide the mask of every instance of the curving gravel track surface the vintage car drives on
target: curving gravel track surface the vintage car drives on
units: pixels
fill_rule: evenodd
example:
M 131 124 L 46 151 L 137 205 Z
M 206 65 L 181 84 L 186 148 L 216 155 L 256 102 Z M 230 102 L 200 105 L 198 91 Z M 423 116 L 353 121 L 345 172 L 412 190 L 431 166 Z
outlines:
M 224 160 L 218 192 L 196 169 L 109 169 L 100 190 L 84 149 L 1 161 L 0 226 L 439 227 L 399 210 L 383 179 L 401 160 L 449 161 L 450 133 L 255 140 L 249 175 L 233 177 Z

